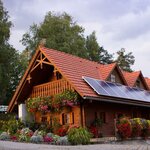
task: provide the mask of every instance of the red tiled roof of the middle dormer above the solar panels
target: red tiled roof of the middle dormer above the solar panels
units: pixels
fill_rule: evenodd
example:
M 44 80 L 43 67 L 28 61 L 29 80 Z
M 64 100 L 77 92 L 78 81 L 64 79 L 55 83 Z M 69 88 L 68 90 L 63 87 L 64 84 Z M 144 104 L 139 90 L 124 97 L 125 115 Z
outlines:
M 143 74 L 141 71 L 134 71 L 134 72 L 127 72 L 127 71 L 122 71 L 125 80 L 127 81 L 128 86 L 133 87 L 139 77 L 142 79 L 142 83 L 144 84 L 146 90 L 149 90 L 149 87 L 143 77 Z

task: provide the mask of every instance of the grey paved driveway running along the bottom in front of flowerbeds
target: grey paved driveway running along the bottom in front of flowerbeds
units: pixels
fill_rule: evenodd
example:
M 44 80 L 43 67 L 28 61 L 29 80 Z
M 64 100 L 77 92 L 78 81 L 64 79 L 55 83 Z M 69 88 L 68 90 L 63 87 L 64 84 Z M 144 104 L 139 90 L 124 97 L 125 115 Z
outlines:
M 94 144 L 79 146 L 55 146 L 46 144 L 31 144 L 0 141 L 0 150 L 150 150 L 147 142 L 127 142 L 118 144 Z

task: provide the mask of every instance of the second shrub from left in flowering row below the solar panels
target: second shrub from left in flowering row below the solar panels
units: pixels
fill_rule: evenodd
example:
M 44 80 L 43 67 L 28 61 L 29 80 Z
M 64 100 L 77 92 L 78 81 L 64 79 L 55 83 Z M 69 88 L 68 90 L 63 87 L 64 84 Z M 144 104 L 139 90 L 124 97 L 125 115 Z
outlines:
M 139 137 L 142 135 L 142 122 L 140 118 L 131 119 L 131 126 L 132 126 L 132 136 Z

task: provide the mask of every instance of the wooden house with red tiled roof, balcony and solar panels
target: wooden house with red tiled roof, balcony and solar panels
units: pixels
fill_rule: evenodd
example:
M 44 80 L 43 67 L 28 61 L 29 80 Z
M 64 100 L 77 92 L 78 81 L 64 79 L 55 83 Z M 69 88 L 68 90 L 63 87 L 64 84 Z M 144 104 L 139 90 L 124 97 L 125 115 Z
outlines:
M 80 103 L 57 114 L 61 124 L 90 126 L 103 121 L 103 136 L 115 134 L 114 119 L 126 115 L 150 118 L 150 86 L 141 72 L 124 72 L 116 63 L 103 65 L 64 52 L 40 47 L 33 56 L 8 106 L 25 116 L 29 97 L 53 96 L 74 90 Z M 35 121 L 50 123 L 50 113 L 35 113 Z

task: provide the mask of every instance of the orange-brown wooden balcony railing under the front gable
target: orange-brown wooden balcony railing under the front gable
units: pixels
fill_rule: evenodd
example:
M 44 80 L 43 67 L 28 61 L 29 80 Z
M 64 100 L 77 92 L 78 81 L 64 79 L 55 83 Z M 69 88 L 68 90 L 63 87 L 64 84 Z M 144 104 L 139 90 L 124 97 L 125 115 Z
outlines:
M 30 97 L 38 96 L 53 96 L 58 93 L 62 93 L 65 90 L 73 90 L 72 86 L 65 79 L 40 84 L 33 87 Z

